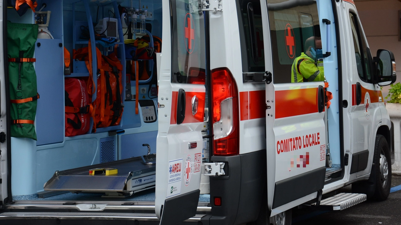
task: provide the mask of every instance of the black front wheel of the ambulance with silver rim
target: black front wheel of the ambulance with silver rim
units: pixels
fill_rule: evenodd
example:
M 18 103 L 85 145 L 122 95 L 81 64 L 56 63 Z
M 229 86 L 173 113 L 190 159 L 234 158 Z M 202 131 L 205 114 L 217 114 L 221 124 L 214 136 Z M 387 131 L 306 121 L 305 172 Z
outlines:
M 368 199 L 384 201 L 390 195 L 391 155 L 387 140 L 376 135 L 375 153 L 369 180 L 352 184 L 352 192 L 363 193 Z

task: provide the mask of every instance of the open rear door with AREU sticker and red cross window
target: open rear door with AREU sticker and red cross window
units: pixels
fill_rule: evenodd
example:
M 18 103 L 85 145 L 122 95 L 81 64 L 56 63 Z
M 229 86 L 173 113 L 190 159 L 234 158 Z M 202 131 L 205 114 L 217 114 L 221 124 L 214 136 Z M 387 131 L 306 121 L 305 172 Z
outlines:
M 193 217 L 199 200 L 205 112 L 205 24 L 188 0 L 163 0 L 156 146 L 161 225 Z

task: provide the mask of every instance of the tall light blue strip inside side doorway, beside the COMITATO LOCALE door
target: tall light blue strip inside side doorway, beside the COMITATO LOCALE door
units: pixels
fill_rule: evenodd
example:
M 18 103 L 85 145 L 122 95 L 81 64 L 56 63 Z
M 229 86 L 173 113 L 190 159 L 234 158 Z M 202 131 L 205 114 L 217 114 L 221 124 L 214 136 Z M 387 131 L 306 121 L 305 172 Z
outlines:
M 333 93 L 333 99 L 330 100 L 331 105 L 328 111 L 328 132 L 330 141 L 330 155 L 332 164 L 340 165 L 340 118 L 339 118 L 339 102 L 338 102 L 338 54 L 337 54 L 337 37 L 336 24 L 334 22 L 334 14 L 331 1 L 317 1 L 318 12 L 320 18 L 320 33 L 322 35 L 323 53 L 326 52 L 327 46 L 330 47 L 331 56 L 324 58 L 324 75 L 329 83 L 328 91 Z M 324 16 L 322 16 L 324 15 Z M 330 24 L 330 43 L 327 43 L 327 25 L 322 19 L 328 19 Z

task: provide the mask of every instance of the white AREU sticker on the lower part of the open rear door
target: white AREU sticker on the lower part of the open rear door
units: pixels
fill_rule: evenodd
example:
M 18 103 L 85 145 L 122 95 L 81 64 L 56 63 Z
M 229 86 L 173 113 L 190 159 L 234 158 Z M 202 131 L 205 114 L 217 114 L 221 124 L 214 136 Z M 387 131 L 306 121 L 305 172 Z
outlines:
M 182 159 L 168 162 L 168 185 L 166 197 L 181 193 Z

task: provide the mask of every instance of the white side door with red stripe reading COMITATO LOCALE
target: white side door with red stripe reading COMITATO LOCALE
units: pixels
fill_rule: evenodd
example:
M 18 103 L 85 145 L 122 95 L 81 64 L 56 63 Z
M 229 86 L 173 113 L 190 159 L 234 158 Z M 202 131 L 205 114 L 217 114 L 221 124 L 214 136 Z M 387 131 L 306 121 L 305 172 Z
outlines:
M 326 172 L 323 60 L 311 54 L 322 48 L 321 41 L 318 44 L 322 18 L 316 1 L 274 2 L 261 0 L 264 43 L 269 43 L 264 46 L 270 71 L 265 103 L 271 216 L 316 199 Z M 304 56 L 314 60 L 301 64 Z M 306 78 L 300 80 L 298 71 Z

